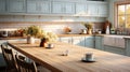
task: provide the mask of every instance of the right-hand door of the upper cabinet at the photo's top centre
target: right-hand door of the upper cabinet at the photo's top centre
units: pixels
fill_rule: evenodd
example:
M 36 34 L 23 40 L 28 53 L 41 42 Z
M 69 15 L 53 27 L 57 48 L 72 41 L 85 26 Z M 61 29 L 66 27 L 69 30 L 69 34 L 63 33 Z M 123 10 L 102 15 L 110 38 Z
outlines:
M 66 13 L 66 14 L 74 14 L 75 13 L 74 3 L 65 3 L 63 9 L 64 9 L 63 13 Z

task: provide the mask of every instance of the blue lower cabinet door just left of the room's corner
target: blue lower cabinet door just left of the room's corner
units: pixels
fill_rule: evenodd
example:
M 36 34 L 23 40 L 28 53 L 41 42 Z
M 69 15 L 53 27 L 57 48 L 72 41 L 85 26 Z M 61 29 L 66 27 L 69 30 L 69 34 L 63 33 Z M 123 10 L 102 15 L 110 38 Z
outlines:
M 86 37 L 86 47 L 94 48 L 94 37 Z

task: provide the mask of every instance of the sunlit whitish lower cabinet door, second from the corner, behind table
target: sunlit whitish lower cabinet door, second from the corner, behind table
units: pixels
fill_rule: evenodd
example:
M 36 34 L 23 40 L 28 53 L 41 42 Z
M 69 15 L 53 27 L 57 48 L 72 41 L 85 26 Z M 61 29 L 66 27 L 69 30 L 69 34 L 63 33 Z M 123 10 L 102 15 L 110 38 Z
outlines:
M 79 46 L 84 46 L 84 37 L 73 37 L 72 43 Z

